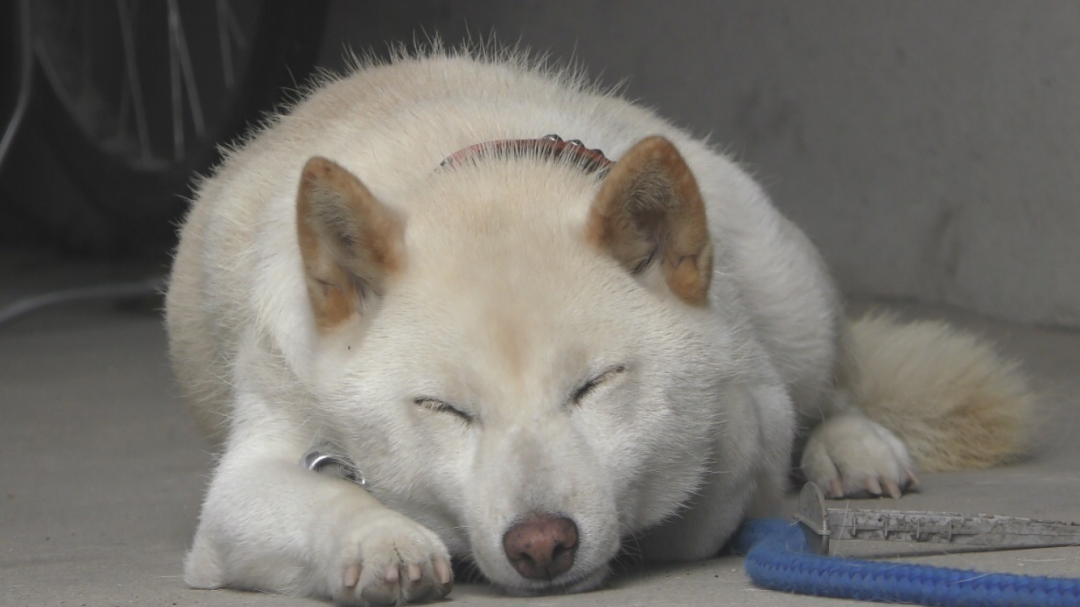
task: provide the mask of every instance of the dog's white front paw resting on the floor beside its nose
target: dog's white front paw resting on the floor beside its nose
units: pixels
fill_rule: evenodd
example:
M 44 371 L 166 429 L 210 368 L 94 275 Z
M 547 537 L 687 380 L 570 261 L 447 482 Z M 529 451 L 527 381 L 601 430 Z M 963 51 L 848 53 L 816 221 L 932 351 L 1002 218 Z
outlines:
M 391 510 L 365 512 L 337 538 L 327 572 L 341 605 L 403 605 L 435 601 L 454 585 L 450 556 L 434 532 Z

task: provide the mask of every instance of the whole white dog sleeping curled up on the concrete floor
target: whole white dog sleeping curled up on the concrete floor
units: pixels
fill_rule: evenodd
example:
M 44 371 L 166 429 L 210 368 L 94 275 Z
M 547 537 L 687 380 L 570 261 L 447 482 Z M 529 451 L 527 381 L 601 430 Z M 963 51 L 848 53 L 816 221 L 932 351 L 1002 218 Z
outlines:
M 497 53 L 324 80 L 183 228 L 172 358 L 219 451 L 190 585 L 420 602 L 456 556 L 584 591 L 624 541 L 715 555 L 796 444 L 834 497 L 1022 451 L 1014 365 L 849 325 L 758 185 L 649 110 Z M 325 445 L 366 485 L 300 466 Z

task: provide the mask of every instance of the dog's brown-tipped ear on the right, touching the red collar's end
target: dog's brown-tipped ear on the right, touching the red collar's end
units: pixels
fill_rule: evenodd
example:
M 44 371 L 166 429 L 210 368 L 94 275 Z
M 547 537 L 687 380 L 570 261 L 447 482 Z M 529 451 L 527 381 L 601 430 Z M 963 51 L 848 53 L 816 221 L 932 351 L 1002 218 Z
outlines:
M 713 273 L 705 203 L 690 167 L 663 137 L 642 139 L 600 186 L 589 241 L 640 275 L 658 267 L 677 297 L 704 306 Z

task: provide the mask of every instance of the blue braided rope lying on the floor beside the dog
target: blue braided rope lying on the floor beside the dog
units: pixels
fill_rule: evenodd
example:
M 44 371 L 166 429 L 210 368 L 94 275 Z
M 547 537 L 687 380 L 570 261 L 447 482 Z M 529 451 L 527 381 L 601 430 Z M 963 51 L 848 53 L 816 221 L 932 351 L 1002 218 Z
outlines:
M 746 522 L 732 539 L 758 586 L 796 594 L 941 607 L 1077 607 L 1080 579 L 822 556 L 802 528 L 778 518 Z

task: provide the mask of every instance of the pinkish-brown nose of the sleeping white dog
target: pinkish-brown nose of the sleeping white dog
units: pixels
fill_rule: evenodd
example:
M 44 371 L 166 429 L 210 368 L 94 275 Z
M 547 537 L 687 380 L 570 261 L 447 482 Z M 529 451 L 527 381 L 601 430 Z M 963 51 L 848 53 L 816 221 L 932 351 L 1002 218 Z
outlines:
M 534 514 L 502 536 L 502 549 L 523 578 L 550 580 L 573 566 L 578 526 L 566 516 Z

